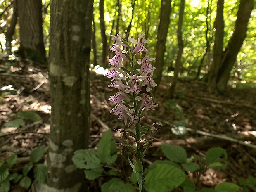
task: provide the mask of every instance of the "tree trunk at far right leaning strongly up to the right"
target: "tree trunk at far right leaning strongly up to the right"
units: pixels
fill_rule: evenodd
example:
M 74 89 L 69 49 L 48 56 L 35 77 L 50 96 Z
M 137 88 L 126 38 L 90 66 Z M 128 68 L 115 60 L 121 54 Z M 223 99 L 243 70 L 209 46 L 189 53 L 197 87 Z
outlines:
M 215 44 L 217 45 L 214 45 L 214 58 L 211 70 L 209 72 L 209 91 L 218 91 L 220 93 L 225 92 L 228 79 L 230 77 L 230 72 L 235 65 L 237 54 L 241 49 L 243 41 L 246 37 L 247 25 L 253 7 L 254 0 L 240 0 L 239 9 L 237 12 L 237 20 L 235 23 L 235 30 L 224 52 L 222 50 L 222 46 L 220 45 L 223 45 L 223 40 L 221 42 L 221 38 L 219 38 L 219 40 L 215 40 Z M 217 28 L 215 38 L 218 38 Z

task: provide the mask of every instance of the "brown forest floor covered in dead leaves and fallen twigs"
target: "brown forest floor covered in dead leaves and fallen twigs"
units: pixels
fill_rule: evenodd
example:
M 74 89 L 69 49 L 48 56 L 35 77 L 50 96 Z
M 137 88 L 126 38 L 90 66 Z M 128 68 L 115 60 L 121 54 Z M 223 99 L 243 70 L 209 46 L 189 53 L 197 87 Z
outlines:
M 12 171 L 21 171 L 24 164 L 29 162 L 31 150 L 48 145 L 49 142 L 51 107 L 48 73 L 46 68 L 42 69 L 42 66 L 26 61 L 9 63 L 9 67 L 6 62 L 0 62 L 0 159 L 17 154 L 17 165 Z M 109 113 L 114 104 L 108 98 L 116 91 L 107 87 L 110 80 L 95 72 L 90 75 L 90 147 L 93 148 L 105 130 L 111 128 L 113 135 L 120 137 L 119 132 L 114 129 L 125 126 Z M 206 91 L 206 84 L 200 81 L 180 81 L 175 99 L 168 100 L 170 82 L 170 78 L 164 78 L 155 97 L 159 106 L 150 111 L 145 119 L 146 124 L 156 121 L 163 124 L 154 135 L 153 145 L 145 157 L 145 166 L 157 159 L 165 159 L 160 148 L 162 143 L 183 146 L 189 156 L 197 154 L 202 157 L 211 147 L 223 147 L 228 153 L 227 168 L 222 171 L 207 169 L 200 176 L 198 189 L 214 188 L 223 181 L 238 184 L 239 177 L 255 177 L 256 148 L 253 147 L 256 145 L 256 89 L 229 87 L 225 96 L 212 95 Z M 4 126 L 4 123 L 17 119 L 17 113 L 24 110 L 36 112 L 41 119 L 35 122 L 25 121 L 25 125 L 20 127 Z M 190 128 L 183 136 L 171 131 L 175 123 L 180 121 Z M 252 147 L 246 146 L 248 144 Z M 127 165 L 123 167 L 130 169 Z M 188 175 L 192 180 L 197 177 L 196 173 Z M 101 183 L 102 179 L 90 182 L 87 191 L 100 191 Z M 13 186 L 12 190 L 17 190 L 17 186 Z M 249 191 L 254 190 L 249 188 Z

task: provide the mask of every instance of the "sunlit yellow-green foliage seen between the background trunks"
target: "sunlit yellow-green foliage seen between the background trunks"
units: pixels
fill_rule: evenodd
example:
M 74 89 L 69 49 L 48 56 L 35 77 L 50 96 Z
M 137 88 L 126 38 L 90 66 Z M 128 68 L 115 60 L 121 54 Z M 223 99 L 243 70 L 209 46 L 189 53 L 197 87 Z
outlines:
M 0 0 L 0 43 L 2 50 L 5 50 L 5 35 L 8 24 L 12 15 L 12 6 L 10 0 Z M 99 2 L 95 0 L 94 3 L 94 33 L 96 40 L 96 55 L 97 63 L 101 65 L 102 53 L 102 38 L 100 33 L 100 13 Z M 121 8 L 118 9 L 120 3 Z M 131 3 L 135 2 L 134 12 Z M 42 0 L 43 4 L 43 32 L 45 38 L 46 51 L 49 50 L 49 28 L 50 28 L 50 0 Z M 180 0 L 173 0 L 171 2 L 171 24 L 168 30 L 168 37 L 166 42 L 165 66 L 164 72 L 168 75 L 173 75 L 173 68 L 175 67 L 175 58 L 178 51 L 177 40 L 177 26 L 179 16 Z M 254 4 L 255 1 L 254 1 Z M 236 14 L 239 6 L 238 0 L 226 0 L 224 4 L 224 47 L 227 46 L 228 40 L 232 36 L 235 27 Z M 116 23 L 119 17 L 119 35 L 124 37 L 127 28 L 131 22 L 130 36 L 137 37 L 141 33 L 146 33 L 146 37 L 150 40 L 147 45 L 151 55 L 155 54 L 156 47 L 156 34 L 157 26 L 159 24 L 161 0 L 117 0 L 117 1 L 104 1 L 104 20 L 106 26 L 106 35 L 108 38 L 108 45 L 111 46 L 110 35 L 116 34 Z M 210 11 L 206 14 L 207 7 Z M 255 7 L 255 6 L 254 6 Z M 119 13 L 119 14 L 118 14 Z M 132 14 L 133 17 L 132 17 Z M 208 16 L 208 17 L 207 17 Z M 213 50 L 213 34 L 214 34 L 214 21 L 216 17 L 216 1 L 213 0 L 187 0 L 185 5 L 185 12 L 183 18 L 183 41 L 184 50 L 182 56 L 182 70 L 181 77 L 187 78 L 202 78 L 209 69 L 209 62 L 203 58 L 206 50 L 206 19 L 208 22 L 207 39 L 211 46 L 210 56 Z M 131 18 L 133 18 L 131 20 Z M 113 22 L 114 21 L 114 22 Z M 113 26 L 114 23 L 114 26 Z M 19 46 L 18 26 L 16 27 L 15 36 L 12 41 L 13 50 Z M 247 82 L 255 82 L 256 79 L 256 9 L 251 13 L 249 21 L 247 37 L 242 45 L 242 48 L 237 55 L 237 62 L 232 71 L 233 77 L 236 79 L 244 80 Z M 92 62 L 93 62 L 93 57 Z M 211 59 L 211 57 L 209 57 Z M 204 59 L 202 61 L 202 59 Z M 197 77 L 199 65 L 202 63 L 201 73 Z

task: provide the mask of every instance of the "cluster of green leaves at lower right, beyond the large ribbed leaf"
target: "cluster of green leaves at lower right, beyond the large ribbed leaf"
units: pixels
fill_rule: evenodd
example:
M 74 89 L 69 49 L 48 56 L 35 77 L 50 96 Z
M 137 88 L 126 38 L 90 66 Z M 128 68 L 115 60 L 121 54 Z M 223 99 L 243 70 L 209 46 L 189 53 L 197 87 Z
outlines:
M 167 159 L 154 161 L 149 169 L 157 164 L 170 164 L 182 169 L 186 174 L 192 173 L 194 180 L 186 178 L 180 185 L 184 192 L 237 192 L 239 190 L 238 185 L 229 182 L 220 183 L 214 189 L 201 188 L 199 190 L 197 188 L 201 174 L 208 168 L 220 170 L 227 166 L 228 155 L 225 149 L 213 147 L 206 152 L 205 157 L 199 155 L 188 157 L 186 150 L 176 145 L 163 144 L 161 149 Z

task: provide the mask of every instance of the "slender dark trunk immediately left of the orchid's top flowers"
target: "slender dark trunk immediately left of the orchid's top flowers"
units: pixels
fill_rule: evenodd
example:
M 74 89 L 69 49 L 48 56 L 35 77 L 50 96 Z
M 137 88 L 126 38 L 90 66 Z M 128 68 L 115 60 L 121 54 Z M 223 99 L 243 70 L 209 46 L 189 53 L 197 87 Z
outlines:
M 100 0 L 100 35 L 102 39 L 102 65 L 104 68 L 107 68 L 107 35 L 106 35 L 106 26 L 104 19 L 104 0 Z

